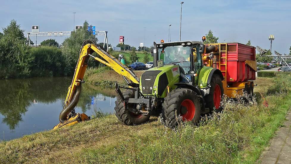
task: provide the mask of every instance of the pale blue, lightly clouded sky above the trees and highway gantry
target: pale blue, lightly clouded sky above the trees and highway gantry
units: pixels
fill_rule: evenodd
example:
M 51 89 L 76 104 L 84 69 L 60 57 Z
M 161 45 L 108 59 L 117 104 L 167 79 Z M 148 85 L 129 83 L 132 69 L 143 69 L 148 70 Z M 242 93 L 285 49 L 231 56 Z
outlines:
M 108 0 L 108 1 L 41 1 L 15 0 L 1 2 L 0 27 L 6 27 L 15 19 L 26 32 L 32 25 L 39 25 L 41 32 L 73 30 L 85 20 L 97 30 L 108 31 L 108 42 L 118 44 L 124 35 L 126 44 L 139 46 L 153 41 L 179 40 L 181 1 L 177 0 Z M 269 49 L 270 34 L 275 36 L 272 51 L 289 54 L 291 1 L 246 0 L 246 1 L 193 1 L 184 0 L 182 8 L 181 40 L 201 40 L 208 30 L 219 37 L 218 42 L 247 43 Z M 144 27 L 146 27 L 144 29 Z M 2 32 L 2 30 L 0 30 Z M 26 35 L 26 34 L 25 34 Z M 60 42 L 60 37 L 52 37 Z M 35 42 L 35 37 L 31 38 Z M 37 43 L 47 39 L 38 37 Z M 62 37 L 62 41 L 65 36 Z M 103 42 L 101 36 L 99 42 Z

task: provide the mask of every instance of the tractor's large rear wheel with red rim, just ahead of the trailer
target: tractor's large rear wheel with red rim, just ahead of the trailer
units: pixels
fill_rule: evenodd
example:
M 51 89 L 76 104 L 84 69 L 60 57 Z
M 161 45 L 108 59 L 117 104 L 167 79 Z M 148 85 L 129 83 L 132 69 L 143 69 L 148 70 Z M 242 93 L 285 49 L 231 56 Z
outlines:
M 220 102 L 223 98 L 223 85 L 219 75 L 212 75 L 210 81 L 209 95 L 205 96 L 206 107 L 211 111 L 215 109 L 215 112 L 221 112 Z

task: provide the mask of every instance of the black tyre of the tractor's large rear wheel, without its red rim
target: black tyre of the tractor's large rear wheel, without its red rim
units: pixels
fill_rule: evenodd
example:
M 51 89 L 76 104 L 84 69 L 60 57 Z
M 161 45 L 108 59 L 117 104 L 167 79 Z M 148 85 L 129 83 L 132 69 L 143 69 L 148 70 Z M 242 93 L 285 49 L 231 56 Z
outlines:
M 209 94 L 205 96 L 205 102 L 206 102 L 206 107 L 210 109 L 210 111 L 213 111 L 213 109 L 215 108 L 215 112 L 221 112 L 222 111 L 222 107 L 216 107 L 215 106 L 215 102 L 214 102 L 214 91 L 215 91 L 215 86 L 218 85 L 220 87 L 220 98 L 223 98 L 223 85 L 222 85 L 222 81 L 219 77 L 219 75 L 217 74 L 213 74 L 211 81 L 210 81 L 210 90 L 209 90 Z M 220 104 L 220 103 L 219 103 Z

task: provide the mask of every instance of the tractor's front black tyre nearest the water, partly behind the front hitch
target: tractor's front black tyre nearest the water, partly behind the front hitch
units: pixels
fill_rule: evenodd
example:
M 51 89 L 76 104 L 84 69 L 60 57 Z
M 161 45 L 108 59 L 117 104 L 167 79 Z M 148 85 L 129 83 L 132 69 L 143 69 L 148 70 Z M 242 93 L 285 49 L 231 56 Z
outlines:
M 123 92 L 124 98 L 134 98 L 133 90 L 126 90 Z M 132 112 L 124 109 L 123 102 L 117 97 L 115 101 L 115 115 L 120 122 L 125 125 L 138 125 L 149 120 L 150 115 L 135 115 Z

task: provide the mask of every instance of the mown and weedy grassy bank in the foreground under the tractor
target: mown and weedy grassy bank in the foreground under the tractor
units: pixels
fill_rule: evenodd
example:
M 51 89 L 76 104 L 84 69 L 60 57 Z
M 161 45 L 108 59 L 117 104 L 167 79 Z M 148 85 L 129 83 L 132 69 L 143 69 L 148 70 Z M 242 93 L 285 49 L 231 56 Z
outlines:
M 258 78 L 264 99 L 224 100 L 224 112 L 175 130 L 158 118 L 125 126 L 114 115 L 0 143 L 1 163 L 255 163 L 291 106 L 290 77 Z M 264 86 L 265 88 L 260 88 Z M 270 87 L 271 86 L 271 87 Z M 279 92 L 278 91 L 279 88 Z M 266 95 L 273 91 L 272 95 Z

